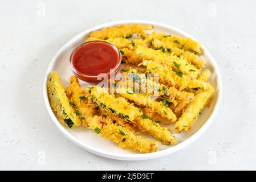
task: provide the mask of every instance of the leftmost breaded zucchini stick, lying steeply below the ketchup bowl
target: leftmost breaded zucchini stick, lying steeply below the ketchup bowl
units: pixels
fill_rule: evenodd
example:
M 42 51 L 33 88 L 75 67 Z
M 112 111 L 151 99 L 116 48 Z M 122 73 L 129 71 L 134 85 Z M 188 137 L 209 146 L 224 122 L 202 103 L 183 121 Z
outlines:
M 70 128 L 73 126 L 80 126 L 81 121 L 76 115 L 73 107 L 70 105 L 70 101 L 66 96 L 65 89 L 60 82 L 60 77 L 57 72 L 51 72 L 48 76 L 47 88 L 51 107 L 56 111 L 60 123 L 67 125 Z

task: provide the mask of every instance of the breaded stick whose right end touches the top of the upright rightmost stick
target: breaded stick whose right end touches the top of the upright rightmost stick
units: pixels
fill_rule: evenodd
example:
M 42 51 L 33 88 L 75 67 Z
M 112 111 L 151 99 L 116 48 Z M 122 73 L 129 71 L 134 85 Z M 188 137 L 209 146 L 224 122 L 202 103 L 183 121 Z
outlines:
M 161 65 L 155 61 L 145 60 L 141 63 L 147 68 L 149 73 L 157 73 L 159 75 L 159 81 L 162 84 L 173 86 L 178 90 L 194 89 L 194 88 L 205 88 L 206 83 L 196 78 L 192 79 L 186 75 L 182 75 L 180 72 L 174 72 L 169 69 L 166 65 Z

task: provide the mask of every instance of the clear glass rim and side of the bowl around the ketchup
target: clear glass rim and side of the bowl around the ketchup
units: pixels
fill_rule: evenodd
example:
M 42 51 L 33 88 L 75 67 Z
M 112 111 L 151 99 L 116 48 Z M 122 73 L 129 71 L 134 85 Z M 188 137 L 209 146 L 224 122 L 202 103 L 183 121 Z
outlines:
M 119 59 L 118 59 L 118 62 L 115 66 L 115 68 L 111 69 L 111 71 L 105 73 L 107 74 L 108 78 L 110 77 L 110 75 L 112 74 L 115 74 L 117 72 L 119 72 L 120 70 L 120 64 L 121 64 L 121 60 L 122 60 L 122 55 L 121 55 L 121 52 L 119 51 L 119 49 L 117 49 L 116 46 L 114 46 L 113 44 L 109 43 L 109 42 L 105 42 L 103 40 L 92 40 L 92 41 L 88 41 L 88 42 L 85 42 L 83 44 L 80 44 L 80 46 L 76 47 L 74 49 L 74 51 L 72 51 L 71 55 L 70 55 L 70 67 L 71 67 L 71 71 L 74 73 L 74 75 L 76 77 L 78 77 L 80 80 L 83 80 L 83 81 L 86 81 L 86 82 L 100 82 L 102 80 L 97 80 L 97 77 L 99 75 L 96 75 L 96 76 L 92 76 L 92 75 L 85 75 L 84 73 L 81 73 L 79 72 L 77 69 L 75 69 L 74 65 L 73 65 L 73 56 L 74 56 L 74 53 L 76 52 L 76 50 L 78 50 L 80 47 L 82 47 L 84 44 L 90 44 L 92 42 L 101 42 L 101 43 L 105 43 L 105 44 L 108 44 L 110 45 L 113 49 L 115 49 L 116 53 L 118 54 L 119 56 Z

